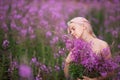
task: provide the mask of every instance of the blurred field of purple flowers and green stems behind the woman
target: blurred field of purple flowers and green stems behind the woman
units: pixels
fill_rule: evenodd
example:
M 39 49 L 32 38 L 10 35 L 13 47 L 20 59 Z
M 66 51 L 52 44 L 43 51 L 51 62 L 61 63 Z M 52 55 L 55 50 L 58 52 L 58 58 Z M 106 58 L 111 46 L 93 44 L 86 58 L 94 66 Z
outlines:
M 1 0 L 0 80 L 66 80 L 67 21 L 77 16 L 91 22 L 96 36 L 108 42 L 120 63 L 119 4 L 119 0 Z

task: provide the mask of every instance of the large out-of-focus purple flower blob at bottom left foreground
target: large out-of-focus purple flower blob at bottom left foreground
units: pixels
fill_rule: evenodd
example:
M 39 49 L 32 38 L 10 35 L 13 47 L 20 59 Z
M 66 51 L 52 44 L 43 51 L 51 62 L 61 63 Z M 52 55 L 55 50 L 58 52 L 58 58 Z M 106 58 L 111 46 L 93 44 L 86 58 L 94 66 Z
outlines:
M 31 67 L 25 64 L 21 64 L 19 66 L 19 75 L 23 78 L 29 78 L 32 75 Z

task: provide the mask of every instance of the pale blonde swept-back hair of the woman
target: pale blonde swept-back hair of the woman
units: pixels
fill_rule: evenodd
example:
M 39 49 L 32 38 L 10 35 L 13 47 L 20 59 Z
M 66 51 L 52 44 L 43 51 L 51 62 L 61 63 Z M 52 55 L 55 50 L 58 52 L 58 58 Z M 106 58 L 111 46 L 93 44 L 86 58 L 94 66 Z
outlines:
M 93 32 L 93 29 L 92 29 L 92 26 L 90 24 L 90 22 L 85 19 L 84 17 L 75 17 L 73 18 L 72 20 L 70 20 L 67 24 L 68 26 L 71 24 L 71 23 L 77 23 L 78 25 L 80 24 L 83 24 L 86 28 L 87 28 L 87 31 L 93 36 L 93 37 L 96 37 L 96 35 L 94 34 Z

